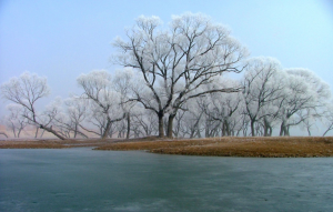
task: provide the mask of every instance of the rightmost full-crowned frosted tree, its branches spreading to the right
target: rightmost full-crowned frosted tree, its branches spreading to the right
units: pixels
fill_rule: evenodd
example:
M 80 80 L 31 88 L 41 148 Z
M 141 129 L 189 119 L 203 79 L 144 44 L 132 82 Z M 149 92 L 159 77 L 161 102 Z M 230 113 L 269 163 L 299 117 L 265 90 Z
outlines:
M 290 127 L 316 114 L 331 99 L 330 85 L 307 69 L 286 69 L 287 78 L 281 104 L 280 135 L 290 135 Z M 304 111 L 306 110 L 306 111 Z

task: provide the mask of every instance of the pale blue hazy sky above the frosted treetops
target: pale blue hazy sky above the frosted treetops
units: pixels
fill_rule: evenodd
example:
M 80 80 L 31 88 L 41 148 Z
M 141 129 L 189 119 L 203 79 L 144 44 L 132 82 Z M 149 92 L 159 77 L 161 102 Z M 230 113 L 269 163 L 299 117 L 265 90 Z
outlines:
M 309 68 L 333 87 L 330 0 L 0 0 L 0 83 L 23 71 L 48 77 L 52 95 L 79 92 L 75 79 L 113 71 L 111 42 L 141 14 L 202 12 L 228 26 L 251 57 Z M 3 112 L 3 101 L 0 114 Z

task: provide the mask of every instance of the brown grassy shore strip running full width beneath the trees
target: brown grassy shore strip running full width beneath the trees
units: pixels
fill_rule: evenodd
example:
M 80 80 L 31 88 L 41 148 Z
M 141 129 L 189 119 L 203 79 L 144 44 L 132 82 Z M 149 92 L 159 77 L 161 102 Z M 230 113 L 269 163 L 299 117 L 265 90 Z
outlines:
M 333 157 L 333 137 L 223 137 L 205 139 L 70 139 L 70 140 L 2 140 L 0 149 L 63 149 L 91 147 L 94 150 L 145 150 L 151 153 L 251 157 L 314 158 Z

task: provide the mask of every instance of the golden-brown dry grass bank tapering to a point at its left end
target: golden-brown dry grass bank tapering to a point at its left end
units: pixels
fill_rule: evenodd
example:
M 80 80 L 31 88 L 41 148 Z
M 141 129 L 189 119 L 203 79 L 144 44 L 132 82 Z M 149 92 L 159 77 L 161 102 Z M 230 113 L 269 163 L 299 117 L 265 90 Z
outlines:
M 333 157 L 333 138 L 210 138 L 111 143 L 97 150 L 148 150 L 153 153 L 216 157 Z

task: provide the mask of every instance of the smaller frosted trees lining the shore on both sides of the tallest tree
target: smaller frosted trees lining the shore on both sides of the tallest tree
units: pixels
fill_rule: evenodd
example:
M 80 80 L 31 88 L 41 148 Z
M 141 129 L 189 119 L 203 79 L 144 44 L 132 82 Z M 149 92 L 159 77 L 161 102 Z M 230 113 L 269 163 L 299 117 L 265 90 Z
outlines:
M 49 89 L 47 84 L 31 87 L 37 83 L 46 83 L 46 80 L 26 72 L 1 87 L 3 97 L 16 102 L 7 107 L 9 114 L 4 118 L 16 137 L 28 124 L 36 125 L 37 132 L 41 128 L 61 139 L 88 138 L 87 132 L 101 138 L 145 137 L 160 132 L 159 117 L 132 101 L 137 92 L 143 95 L 145 85 L 130 69 L 113 78 L 104 70 L 81 74 L 78 84 L 82 94 L 65 100 L 57 98 L 43 112 L 37 112 L 36 102 L 46 97 Z M 221 84 L 243 89 L 241 92 L 211 92 L 188 100 L 174 115 L 173 137 L 268 137 L 273 129 L 278 129 L 280 135 L 290 135 L 290 128 L 294 125 L 303 127 L 311 135 L 319 121 L 327 125 L 324 134 L 332 130 L 330 87 L 309 70 L 282 70 L 274 59 L 255 58 L 249 61 L 243 79 L 220 78 L 201 92 Z M 162 124 L 168 125 L 169 121 L 164 115 Z M 163 131 L 168 133 L 169 128 L 164 127 Z

